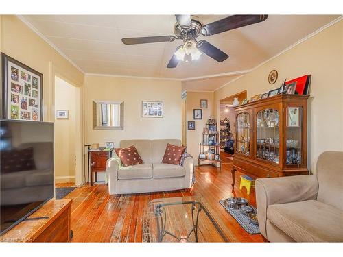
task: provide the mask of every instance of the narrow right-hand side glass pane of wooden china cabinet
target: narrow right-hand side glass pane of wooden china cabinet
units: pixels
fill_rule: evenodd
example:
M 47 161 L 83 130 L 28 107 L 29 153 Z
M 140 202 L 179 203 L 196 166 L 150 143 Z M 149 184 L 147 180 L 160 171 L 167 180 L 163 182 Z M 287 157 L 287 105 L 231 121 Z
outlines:
M 303 108 L 287 107 L 286 117 L 286 165 L 300 165 L 302 156 Z

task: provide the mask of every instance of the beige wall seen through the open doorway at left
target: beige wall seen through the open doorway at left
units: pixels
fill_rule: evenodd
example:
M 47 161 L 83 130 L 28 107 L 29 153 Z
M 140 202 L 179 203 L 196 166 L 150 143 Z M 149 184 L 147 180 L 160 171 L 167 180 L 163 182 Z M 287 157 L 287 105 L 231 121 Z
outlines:
M 55 181 L 75 182 L 76 117 L 79 88 L 55 79 L 56 110 L 68 110 L 68 119 L 55 119 Z

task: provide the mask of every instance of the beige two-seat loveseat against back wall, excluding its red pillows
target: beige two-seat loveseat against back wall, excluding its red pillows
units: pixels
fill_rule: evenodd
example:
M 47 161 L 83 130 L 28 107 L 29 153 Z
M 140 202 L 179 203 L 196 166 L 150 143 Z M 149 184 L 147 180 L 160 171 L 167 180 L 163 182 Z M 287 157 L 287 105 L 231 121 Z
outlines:
M 110 195 L 147 193 L 191 188 L 193 158 L 185 158 L 183 165 L 163 164 L 167 143 L 181 145 L 180 140 L 122 140 L 120 147 L 134 145 L 143 164 L 120 167 L 117 158 L 107 162 L 106 176 Z

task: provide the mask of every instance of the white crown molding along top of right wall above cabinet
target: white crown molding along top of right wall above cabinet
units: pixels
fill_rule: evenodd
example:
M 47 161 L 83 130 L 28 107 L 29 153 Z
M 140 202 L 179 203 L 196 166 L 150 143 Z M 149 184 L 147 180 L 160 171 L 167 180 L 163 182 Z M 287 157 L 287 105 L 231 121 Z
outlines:
M 323 27 L 320 27 L 319 29 L 317 29 L 316 31 L 312 32 L 311 34 L 308 34 L 307 36 L 305 36 L 304 38 L 301 38 L 300 40 L 298 40 L 297 42 L 295 42 L 294 44 L 290 45 L 289 47 L 283 49 L 282 51 L 280 51 L 279 53 L 276 53 L 275 56 L 272 56 L 271 58 L 269 58 L 268 60 L 265 60 L 264 62 L 261 62 L 260 64 L 258 64 L 257 66 L 255 66 L 254 68 L 250 69 L 251 71 L 255 71 L 255 69 L 258 69 L 260 66 L 266 64 L 267 62 L 270 62 L 271 60 L 273 60 L 274 58 L 281 56 L 281 54 L 289 51 L 290 49 L 296 47 L 297 45 L 300 45 L 302 42 L 305 42 L 306 40 L 308 40 L 309 38 L 312 38 L 313 36 L 316 36 L 316 34 L 319 34 L 320 32 L 322 32 L 324 29 L 327 29 L 329 27 L 331 27 L 332 25 L 334 25 L 335 23 L 338 23 L 339 21 L 341 21 L 343 19 L 343 15 L 339 16 L 337 19 L 334 19 L 333 21 L 327 23 L 327 25 L 324 25 Z M 244 74 L 246 75 L 246 74 Z M 224 86 L 228 86 L 229 84 L 235 82 L 237 79 L 240 79 L 241 77 L 243 77 L 244 75 L 241 75 L 240 77 L 237 77 L 233 80 L 231 80 L 230 82 L 225 83 L 224 85 L 220 86 L 219 88 L 217 88 L 215 91 L 220 90 L 220 88 L 224 88 Z

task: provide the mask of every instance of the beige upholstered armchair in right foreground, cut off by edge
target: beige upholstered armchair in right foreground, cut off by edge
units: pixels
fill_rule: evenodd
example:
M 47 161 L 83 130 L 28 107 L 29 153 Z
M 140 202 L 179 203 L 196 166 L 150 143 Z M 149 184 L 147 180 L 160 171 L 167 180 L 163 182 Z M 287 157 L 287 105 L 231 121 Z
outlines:
M 261 234 L 270 242 L 343 241 L 343 152 L 327 151 L 317 175 L 256 180 Z

